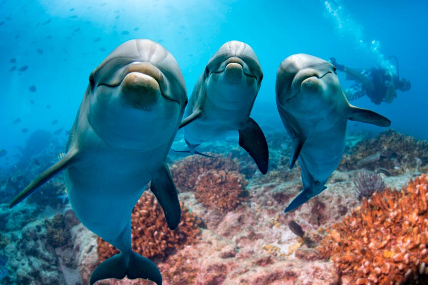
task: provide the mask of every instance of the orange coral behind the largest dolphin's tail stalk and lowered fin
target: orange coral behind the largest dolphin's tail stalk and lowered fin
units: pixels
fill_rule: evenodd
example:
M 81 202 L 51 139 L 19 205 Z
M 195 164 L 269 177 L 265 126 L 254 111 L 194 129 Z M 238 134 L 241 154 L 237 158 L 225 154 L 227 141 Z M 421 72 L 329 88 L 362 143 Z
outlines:
M 168 251 L 182 248 L 196 240 L 200 221 L 181 203 L 181 221 L 175 231 L 168 229 L 158 200 L 145 191 L 131 214 L 132 249 L 144 257 L 165 257 Z M 98 237 L 100 262 L 119 253 L 112 245 Z

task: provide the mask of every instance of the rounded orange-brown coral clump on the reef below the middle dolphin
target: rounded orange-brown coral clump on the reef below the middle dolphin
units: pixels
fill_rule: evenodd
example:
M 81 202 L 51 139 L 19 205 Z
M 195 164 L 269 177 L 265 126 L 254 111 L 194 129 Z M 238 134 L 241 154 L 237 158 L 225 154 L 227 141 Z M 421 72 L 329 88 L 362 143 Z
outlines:
M 221 212 L 232 211 L 245 199 L 247 181 L 236 171 L 209 171 L 198 176 L 196 201 Z

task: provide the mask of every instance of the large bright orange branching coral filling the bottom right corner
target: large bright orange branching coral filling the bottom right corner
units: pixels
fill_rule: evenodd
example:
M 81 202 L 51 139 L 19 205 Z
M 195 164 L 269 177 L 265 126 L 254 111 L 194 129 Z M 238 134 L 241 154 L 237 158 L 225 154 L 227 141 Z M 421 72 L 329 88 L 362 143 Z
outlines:
M 318 248 L 353 284 L 414 282 L 428 274 L 428 178 L 375 193 L 333 224 Z M 426 276 L 425 276 L 426 277 Z

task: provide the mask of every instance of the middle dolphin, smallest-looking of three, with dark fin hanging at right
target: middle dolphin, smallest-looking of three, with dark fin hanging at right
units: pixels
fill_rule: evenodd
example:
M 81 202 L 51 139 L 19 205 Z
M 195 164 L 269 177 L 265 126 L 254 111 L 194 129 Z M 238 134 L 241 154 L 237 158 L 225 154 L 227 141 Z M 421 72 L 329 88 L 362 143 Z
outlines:
M 203 142 L 239 131 L 239 145 L 266 174 L 266 138 L 250 118 L 262 79 L 259 60 L 248 44 L 232 40 L 214 53 L 196 82 L 180 125 L 185 127 L 184 139 L 191 154 L 201 154 L 196 147 Z

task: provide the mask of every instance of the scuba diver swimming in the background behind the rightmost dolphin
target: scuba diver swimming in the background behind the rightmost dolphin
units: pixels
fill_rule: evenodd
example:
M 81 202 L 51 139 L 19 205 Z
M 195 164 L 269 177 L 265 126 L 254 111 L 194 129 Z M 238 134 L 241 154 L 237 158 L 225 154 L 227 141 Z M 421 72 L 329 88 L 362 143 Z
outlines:
M 395 56 L 395 60 L 397 58 Z M 391 58 L 390 57 L 390 58 Z M 330 58 L 330 62 L 339 71 L 346 73 L 346 79 L 357 81 L 350 88 L 344 90 L 348 101 L 356 100 L 367 95 L 376 105 L 382 102 L 391 103 L 397 97 L 396 89 L 407 91 L 410 89 L 410 81 L 399 78 L 398 72 L 382 68 L 353 69 L 336 63 L 336 58 Z M 398 70 L 398 61 L 397 61 Z

